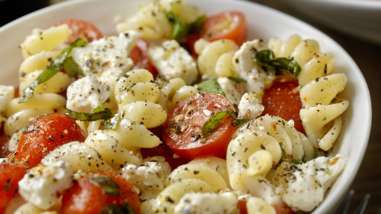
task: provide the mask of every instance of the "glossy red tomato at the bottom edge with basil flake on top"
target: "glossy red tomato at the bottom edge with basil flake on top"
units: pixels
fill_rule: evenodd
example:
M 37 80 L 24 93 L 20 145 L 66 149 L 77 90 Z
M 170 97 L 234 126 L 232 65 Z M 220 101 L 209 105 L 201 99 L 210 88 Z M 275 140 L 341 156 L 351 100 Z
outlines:
M 118 186 L 119 193 L 107 192 L 94 181 L 94 177 L 111 179 Z M 113 193 L 113 194 L 111 194 Z M 62 214 L 100 213 L 107 205 L 128 204 L 135 214 L 140 214 L 140 200 L 135 188 L 125 178 L 112 172 L 89 173 L 63 193 Z

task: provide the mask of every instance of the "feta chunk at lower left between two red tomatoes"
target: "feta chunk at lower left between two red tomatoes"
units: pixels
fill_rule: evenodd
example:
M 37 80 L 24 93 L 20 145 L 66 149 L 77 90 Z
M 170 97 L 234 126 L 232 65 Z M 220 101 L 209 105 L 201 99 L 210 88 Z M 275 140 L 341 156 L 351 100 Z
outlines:
M 70 166 L 63 161 L 51 165 L 40 164 L 30 169 L 19 181 L 19 193 L 33 205 L 49 209 L 57 203 L 57 193 L 63 193 L 71 187 L 72 175 Z

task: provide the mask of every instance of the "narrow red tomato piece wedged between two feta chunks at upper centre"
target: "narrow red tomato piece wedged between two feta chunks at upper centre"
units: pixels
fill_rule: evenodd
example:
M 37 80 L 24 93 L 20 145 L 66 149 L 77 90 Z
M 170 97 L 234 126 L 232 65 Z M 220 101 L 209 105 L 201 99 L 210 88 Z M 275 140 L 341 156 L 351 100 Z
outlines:
M 149 44 L 145 40 L 139 39 L 136 42 L 135 47 L 132 48 L 129 57 L 135 64 L 132 69 L 147 69 L 149 72 L 151 72 L 153 78 L 155 78 L 157 76 L 157 70 L 148 59 L 148 46 Z

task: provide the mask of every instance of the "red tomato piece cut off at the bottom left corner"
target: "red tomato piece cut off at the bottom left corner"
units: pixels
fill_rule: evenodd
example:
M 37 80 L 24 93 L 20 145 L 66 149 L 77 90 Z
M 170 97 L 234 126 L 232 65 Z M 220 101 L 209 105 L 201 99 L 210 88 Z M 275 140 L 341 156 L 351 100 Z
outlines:
M 0 164 L 0 213 L 19 189 L 18 182 L 26 173 L 27 168 L 18 164 Z

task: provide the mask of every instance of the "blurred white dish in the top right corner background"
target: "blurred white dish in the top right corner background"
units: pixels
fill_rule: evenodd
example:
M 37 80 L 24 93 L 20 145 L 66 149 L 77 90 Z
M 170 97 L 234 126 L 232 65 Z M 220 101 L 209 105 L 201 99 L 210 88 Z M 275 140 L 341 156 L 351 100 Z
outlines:
M 284 0 L 311 21 L 367 42 L 381 44 L 379 0 Z

